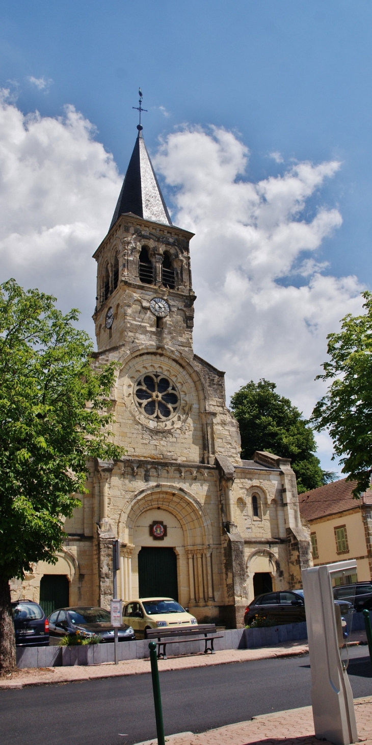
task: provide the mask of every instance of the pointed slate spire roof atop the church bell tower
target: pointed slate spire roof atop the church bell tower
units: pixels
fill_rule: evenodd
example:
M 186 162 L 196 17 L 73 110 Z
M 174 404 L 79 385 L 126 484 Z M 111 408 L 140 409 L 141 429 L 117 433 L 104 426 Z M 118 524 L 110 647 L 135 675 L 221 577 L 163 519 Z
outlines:
M 138 218 L 154 223 L 172 225 L 167 205 L 155 176 L 153 164 L 147 153 L 142 127 L 138 124 L 138 137 L 129 160 L 118 204 L 115 207 L 110 229 L 121 215 L 132 212 Z

